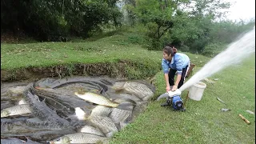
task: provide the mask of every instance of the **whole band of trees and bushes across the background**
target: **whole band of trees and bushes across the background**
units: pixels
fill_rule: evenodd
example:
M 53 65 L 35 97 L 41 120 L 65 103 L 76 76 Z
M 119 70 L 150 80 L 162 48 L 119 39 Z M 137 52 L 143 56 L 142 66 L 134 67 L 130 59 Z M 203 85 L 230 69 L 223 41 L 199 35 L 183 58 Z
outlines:
M 225 20 L 230 3 L 217 0 L 3 0 L 1 4 L 3 38 L 22 34 L 20 38 L 39 42 L 70 42 L 119 30 L 121 25 L 134 26 L 140 29 L 139 44 L 148 50 L 162 50 L 174 42 L 179 50 L 208 57 L 255 23 Z

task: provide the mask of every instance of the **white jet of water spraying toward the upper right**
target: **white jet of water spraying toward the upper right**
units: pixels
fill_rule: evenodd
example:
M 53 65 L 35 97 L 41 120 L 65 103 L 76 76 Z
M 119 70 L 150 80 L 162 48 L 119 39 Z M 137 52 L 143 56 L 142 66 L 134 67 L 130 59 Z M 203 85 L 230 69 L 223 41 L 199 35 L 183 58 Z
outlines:
M 232 42 L 230 46 L 222 53 L 215 56 L 210 62 L 206 63 L 192 78 L 179 89 L 186 90 L 194 83 L 199 82 L 204 78 L 210 77 L 210 75 L 224 69 L 226 66 L 230 66 L 241 62 L 243 58 L 247 58 L 250 54 L 255 52 L 255 26 L 253 30 L 244 34 L 242 38 L 236 42 Z

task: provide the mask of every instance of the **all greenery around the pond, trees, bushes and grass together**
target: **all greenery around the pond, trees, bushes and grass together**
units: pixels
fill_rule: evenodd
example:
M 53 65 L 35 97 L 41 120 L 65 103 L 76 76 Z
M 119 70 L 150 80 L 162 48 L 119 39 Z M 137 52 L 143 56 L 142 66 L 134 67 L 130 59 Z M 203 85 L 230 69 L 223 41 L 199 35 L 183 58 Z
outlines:
M 117 3 L 124 4 L 122 10 Z M 196 64 L 195 73 L 254 26 L 254 19 L 226 21 L 219 11 L 229 6 L 217 0 L 2 0 L 1 75 L 15 79 L 19 71 L 53 66 L 64 66 L 72 75 L 81 69 L 78 65 L 106 66 L 117 73 L 121 63 L 124 69 L 118 72 L 126 78 L 154 77 L 156 93 L 146 111 L 110 143 L 254 143 L 255 118 L 245 111 L 255 110 L 254 57 L 214 74 L 210 79 L 218 81 L 206 82 L 202 100 L 189 99 L 186 112 L 161 107 L 164 99 L 154 101 L 165 92 L 162 46 L 176 43 L 178 52 Z

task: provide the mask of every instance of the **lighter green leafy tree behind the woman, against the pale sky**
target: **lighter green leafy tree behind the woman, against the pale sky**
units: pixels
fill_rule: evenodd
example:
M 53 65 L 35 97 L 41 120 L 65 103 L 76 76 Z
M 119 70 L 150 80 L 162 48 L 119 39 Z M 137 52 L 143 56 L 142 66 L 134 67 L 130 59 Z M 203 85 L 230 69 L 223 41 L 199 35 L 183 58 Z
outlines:
M 209 51 L 214 42 L 232 42 L 245 30 L 245 24 L 220 21 L 229 7 L 221 0 L 134 0 L 126 9 L 148 28 L 150 50 L 176 42 L 180 50 L 206 53 L 206 46 Z

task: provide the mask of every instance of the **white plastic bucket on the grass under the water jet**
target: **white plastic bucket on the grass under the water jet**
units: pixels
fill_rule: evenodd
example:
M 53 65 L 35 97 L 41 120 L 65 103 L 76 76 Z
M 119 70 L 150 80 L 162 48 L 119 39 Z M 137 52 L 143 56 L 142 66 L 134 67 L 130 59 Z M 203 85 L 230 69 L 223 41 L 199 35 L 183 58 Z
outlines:
M 203 82 L 197 82 L 190 87 L 189 97 L 195 101 L 200 101 L 202 98 L 203 90 L 206 89 L 206 84 Z

